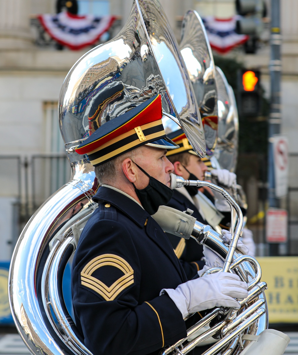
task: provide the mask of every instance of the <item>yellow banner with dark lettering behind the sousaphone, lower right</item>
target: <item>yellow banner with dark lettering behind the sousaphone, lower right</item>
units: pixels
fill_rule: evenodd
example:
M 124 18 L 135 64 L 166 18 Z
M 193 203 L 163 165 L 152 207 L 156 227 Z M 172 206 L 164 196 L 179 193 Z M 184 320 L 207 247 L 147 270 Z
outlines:
M 268 285 L 269 323 L 298 323 L 298 257 L 257 257 Z

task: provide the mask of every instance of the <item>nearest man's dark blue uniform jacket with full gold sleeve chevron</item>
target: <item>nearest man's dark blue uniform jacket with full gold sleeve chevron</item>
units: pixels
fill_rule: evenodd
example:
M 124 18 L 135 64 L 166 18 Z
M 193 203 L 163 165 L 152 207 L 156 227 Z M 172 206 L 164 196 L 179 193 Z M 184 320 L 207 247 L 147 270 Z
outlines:
M 186 281 L 166 234 L 139 204 L 108 187 L 82 231 L 72 269 L 76 326 L 94 354 L 158 354 L 186 336 L 163 288 Z

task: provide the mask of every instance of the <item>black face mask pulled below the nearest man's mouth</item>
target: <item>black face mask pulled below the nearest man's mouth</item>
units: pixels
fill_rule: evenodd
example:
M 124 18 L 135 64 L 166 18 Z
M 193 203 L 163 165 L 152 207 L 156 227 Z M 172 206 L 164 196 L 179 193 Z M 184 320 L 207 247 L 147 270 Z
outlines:
M 137 197 L 139 197 L 139 200 L 145 211 L 147 211 L 150 215 L 155 214 L 159 206 L 163 206 L 170 201 L 174 191 L 171 190 L 167 185 L 164 185 L 162 182 L 152 178 L 152 176 L 146 173 L 146 171 L 143 170 L 139 165 L 136 164 L 136 166 L 148 176 L 149 184 L 145 187 L 145 189 L 142 190 L 137 189 L 133 182 L 132 185 L 134 186 Z

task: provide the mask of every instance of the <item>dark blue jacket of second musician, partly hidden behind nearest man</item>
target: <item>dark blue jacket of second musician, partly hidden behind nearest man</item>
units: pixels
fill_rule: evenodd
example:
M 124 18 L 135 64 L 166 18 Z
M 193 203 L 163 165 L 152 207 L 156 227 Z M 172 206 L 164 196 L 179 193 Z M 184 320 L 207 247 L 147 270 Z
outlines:
M 180 193 L 178 190 L 174 190 L 173 197 L 167 204 L 169 207 L 178 209 L 179 211 L 186 211 L 188 208 L 192 209 L 194 213 L 193 217 L 201 223 L 208 224 L 201 216 L 196 206 L 189 201 L 189 199 Z M 184 268 L 188 280 L 196 276 L 197 271 L 203 268 L 205 261 L 201 261 L 203 254 L 203 246 L 197 244 L 197 242 L 190 238 L 188 240 L 181 239 L 173 234 L 168 234 L 168 238 L 175 250 L 176 255 L 179 257 L 180 262 Z

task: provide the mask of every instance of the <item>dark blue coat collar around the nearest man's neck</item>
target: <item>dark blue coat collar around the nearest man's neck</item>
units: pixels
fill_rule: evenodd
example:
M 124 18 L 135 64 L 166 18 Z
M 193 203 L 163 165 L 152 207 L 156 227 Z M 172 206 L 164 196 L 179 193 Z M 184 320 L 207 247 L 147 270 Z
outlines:
M 107 186 L 100 186 L 93 196 L 93 201 L 98 203 L 102 201 L 109 202 L 142 228 L 150 214 L 137 201 L 117 190 L 110 189 Z

